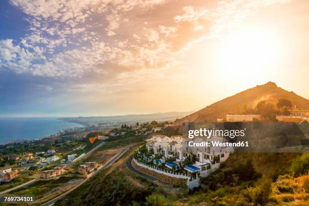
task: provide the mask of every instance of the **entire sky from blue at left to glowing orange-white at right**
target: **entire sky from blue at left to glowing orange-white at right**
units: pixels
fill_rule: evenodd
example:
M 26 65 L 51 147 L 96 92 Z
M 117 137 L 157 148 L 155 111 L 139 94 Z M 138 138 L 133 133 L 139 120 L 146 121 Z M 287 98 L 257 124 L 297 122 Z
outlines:
M 0 2 L 0 116 L 197 111 L 269 81 L 309 98 L 309 1 Z

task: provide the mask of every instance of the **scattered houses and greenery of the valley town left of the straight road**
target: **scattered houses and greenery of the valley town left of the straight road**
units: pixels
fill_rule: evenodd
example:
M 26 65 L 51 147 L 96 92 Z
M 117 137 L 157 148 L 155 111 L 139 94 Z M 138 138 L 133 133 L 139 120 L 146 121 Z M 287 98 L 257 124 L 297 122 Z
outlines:
M 33 187 L 33 182 L 63 178 L 76 181 L 72 183 L 71 187 L 74 187 L 109 163 L 106 161 L 110 156 L 106 153 L 98 157 L 105 145 L 130 138 L 138 138 L 139 141 L 170 125 L 168 121 L 152 121 L 141 125 L 122 124 L 105 131 L 99 126 L 76 127 L 60 130 L 49 137 L 7 142 L 0 145 L 0 194 L 18 191 L 21 187 Z M 61 185 L 66 188 L 66 184 Z M 43 195 L 40 200 L 43 202 L 45 197 Z

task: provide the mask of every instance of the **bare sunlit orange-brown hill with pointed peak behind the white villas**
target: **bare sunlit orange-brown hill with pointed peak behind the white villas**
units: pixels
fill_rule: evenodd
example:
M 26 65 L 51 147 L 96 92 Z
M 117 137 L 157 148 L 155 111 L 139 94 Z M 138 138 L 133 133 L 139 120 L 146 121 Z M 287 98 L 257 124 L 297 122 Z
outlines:
M 173 124 L 181 125 L 183 122 L 213 122 L 217 118 L 224 118 L 228 113 L 239 113 L 244 105 L 247 108 L 254 108 L 262 100 L 277 104 L 281 98 L 290 100 L 292 105 L 297 108 L 309 109 L 308 99 L 297 95 L 293 91 L 284 90 L 274 82 L 268 82 L 217 101 L 191 115 L 176 120 Z

